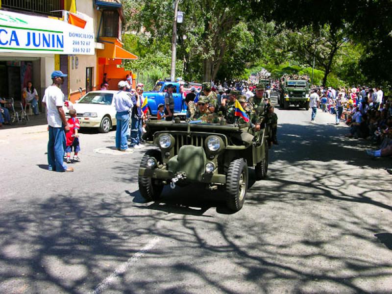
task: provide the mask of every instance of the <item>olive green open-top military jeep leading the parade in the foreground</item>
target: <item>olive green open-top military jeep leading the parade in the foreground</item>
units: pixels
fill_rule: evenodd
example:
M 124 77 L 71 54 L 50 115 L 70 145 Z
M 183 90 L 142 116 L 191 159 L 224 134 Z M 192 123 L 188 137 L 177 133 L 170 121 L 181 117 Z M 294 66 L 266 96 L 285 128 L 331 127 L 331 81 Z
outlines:
M 267 176 L 269 127 L 251 135 L 248 124 L 147 122 L 148 150 L 139 168 L 139 190 L 151 201 L 159 200 L 165 185 L 200 183 L 223 190 L 229 209 L 242 208 L 248 188 L 248 166 L 256 179 Z M 185 197 L 185 195 L 184 195 Z

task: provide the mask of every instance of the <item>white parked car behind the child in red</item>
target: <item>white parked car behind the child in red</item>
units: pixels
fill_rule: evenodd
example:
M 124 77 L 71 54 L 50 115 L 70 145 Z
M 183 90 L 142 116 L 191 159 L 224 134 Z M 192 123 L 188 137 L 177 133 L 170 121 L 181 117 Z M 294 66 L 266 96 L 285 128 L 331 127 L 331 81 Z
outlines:
M 81 127 L 98 127 L 99 132 L 107 133 L 116 125 L 116 108 L 113 95 L 118 91 L 92 91 L 73 104 L 76 118 Z M 130 96 L 130 94 L 129 94 Z M 67 111 L 67 119 L 69 118 Z

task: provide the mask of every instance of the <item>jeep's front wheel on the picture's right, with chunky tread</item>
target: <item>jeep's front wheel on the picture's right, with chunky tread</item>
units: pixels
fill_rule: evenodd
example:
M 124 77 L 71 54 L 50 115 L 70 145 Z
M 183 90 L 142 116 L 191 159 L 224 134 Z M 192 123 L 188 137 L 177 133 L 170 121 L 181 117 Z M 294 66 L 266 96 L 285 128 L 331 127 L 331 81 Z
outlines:
M 225 188 L 227 207 L 239 211 L 244 205 L 248 188 L 248 166 L 244 159 L 236 159 L 230 163 Z

